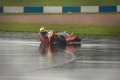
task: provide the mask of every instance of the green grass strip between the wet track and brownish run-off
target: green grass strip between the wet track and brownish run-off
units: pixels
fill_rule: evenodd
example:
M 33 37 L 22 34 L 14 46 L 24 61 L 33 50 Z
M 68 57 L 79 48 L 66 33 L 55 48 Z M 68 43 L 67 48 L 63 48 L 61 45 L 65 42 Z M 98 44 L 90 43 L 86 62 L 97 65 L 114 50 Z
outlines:
M 81 35 L 120 36 L 120 26 L 0 22 L 0 31 L 39 32 L 40 27 L 45 27 L 49 30 L 68 31 Z

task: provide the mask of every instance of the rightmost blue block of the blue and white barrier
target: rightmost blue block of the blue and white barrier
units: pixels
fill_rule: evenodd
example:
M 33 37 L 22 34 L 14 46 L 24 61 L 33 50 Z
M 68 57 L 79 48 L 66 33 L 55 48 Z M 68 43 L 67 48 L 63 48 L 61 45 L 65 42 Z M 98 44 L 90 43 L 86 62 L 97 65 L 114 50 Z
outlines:
M 99 12 L 117 12 L 117 6 L 100 6 Z

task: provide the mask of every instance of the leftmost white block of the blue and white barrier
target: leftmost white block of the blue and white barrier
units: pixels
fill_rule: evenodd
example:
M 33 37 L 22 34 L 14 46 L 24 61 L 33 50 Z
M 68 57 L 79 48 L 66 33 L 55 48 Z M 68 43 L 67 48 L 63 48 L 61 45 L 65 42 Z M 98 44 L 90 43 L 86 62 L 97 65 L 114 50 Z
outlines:
M 3 13 L 23 13 L 23 7 L 3 7 Z

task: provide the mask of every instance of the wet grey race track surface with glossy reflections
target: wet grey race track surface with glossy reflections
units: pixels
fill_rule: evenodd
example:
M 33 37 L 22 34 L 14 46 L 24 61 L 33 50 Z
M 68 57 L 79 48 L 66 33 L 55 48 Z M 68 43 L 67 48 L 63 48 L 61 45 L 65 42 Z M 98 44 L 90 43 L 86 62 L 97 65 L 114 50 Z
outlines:
M 119 80 L 119 40 L 82 36 L 78 45 L 48 46 L 37 33 L 0 32 L 0 80 Z

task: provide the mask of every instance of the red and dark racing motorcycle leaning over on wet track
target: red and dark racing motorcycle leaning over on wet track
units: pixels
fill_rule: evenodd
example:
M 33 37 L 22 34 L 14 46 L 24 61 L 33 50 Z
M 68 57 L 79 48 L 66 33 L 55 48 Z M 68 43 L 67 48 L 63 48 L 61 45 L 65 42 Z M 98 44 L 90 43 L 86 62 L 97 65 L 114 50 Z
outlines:
M 49 42 L 46 33 L 39 33 L 39 41 L 47 44 L 68 45 L 71 43 L 80 42 L 81 38 L 78 35 L 72 35 L 66 38 L 63 36 L 52 36 L 51 41 Z

